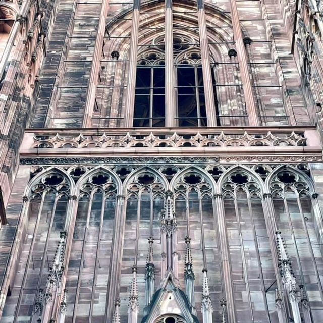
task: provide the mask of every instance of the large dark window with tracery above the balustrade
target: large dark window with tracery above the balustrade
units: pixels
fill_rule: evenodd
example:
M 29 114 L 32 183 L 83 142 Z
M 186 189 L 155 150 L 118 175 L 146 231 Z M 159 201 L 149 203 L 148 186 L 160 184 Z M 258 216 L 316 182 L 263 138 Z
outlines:
M 200 49 L 196 40 L 174 36 L 176 123 L 179 127 L 205 127 L 207 116 Z M 137 62 L 134 127 L 165 126 L 165 39 L 156 37 L 154 45 L 141 53 Z M 212 69 L 216 115 L 219 115 L 216 80 Z

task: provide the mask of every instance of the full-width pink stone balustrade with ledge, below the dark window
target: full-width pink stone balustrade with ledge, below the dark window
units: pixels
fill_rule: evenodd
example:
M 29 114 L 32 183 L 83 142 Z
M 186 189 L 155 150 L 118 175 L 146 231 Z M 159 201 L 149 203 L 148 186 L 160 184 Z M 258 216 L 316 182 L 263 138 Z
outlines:
M 185 152 L 235 163 L 322 160 L 314 127 L 29 129 L 20 157 L 22 164 L 29 164 L 30 158 L 40 163 L 44 157 L 122 157 L 129 151 L 134 157 Z

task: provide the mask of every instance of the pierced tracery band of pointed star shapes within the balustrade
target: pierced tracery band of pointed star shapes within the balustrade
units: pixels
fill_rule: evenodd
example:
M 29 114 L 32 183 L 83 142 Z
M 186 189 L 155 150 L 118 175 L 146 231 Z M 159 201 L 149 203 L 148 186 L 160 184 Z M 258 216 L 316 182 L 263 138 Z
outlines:
M 270 131 L 263 134 L 226 134 L 218 133 L 172 134 L 160 135 L 152 132 L 136 135 L 127 132 L 125 135 L 108 135 L 93 133 L 77 137 L 35 136 L 32 148 L 95 148 L 95 147 L 237 147 L 237 146 L 306 146 L 303 133 L 291 131 L 287 134 L 273 134 Z

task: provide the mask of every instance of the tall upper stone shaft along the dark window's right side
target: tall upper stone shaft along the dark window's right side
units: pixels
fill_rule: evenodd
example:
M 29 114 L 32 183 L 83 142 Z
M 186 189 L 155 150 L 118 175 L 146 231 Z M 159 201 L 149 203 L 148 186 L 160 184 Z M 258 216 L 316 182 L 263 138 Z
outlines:
M 202 58 L 202 72 L 205 96 L 205 109 L 207 117 L 207 126 L 217 126 L 216 102 L 214 100 L 211 63 L 208 48 L 206 17 L 203 0 L 197 0 L 197 17 L 200 37 L 200 48 Z M 199 120 L 200 122 L 201 120 Z

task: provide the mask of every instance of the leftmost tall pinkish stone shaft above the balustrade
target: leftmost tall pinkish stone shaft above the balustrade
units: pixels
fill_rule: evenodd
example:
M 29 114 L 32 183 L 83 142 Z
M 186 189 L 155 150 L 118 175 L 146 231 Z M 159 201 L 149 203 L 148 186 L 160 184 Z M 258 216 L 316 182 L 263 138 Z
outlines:
M 102 0 L 101 13 L 99 18 L 98 30 L 93 52 L 93 61 L 88 80 L 88 89 L 86 93 L 86 102 L 84 110 L 83 127 L 91 127 L 91 118 L 95 103 L 97 75 L 100 69 L 101 50 L 103 46 L 103 37 L 105 34 L 105 19 L 109 8 L 109 0 Z

